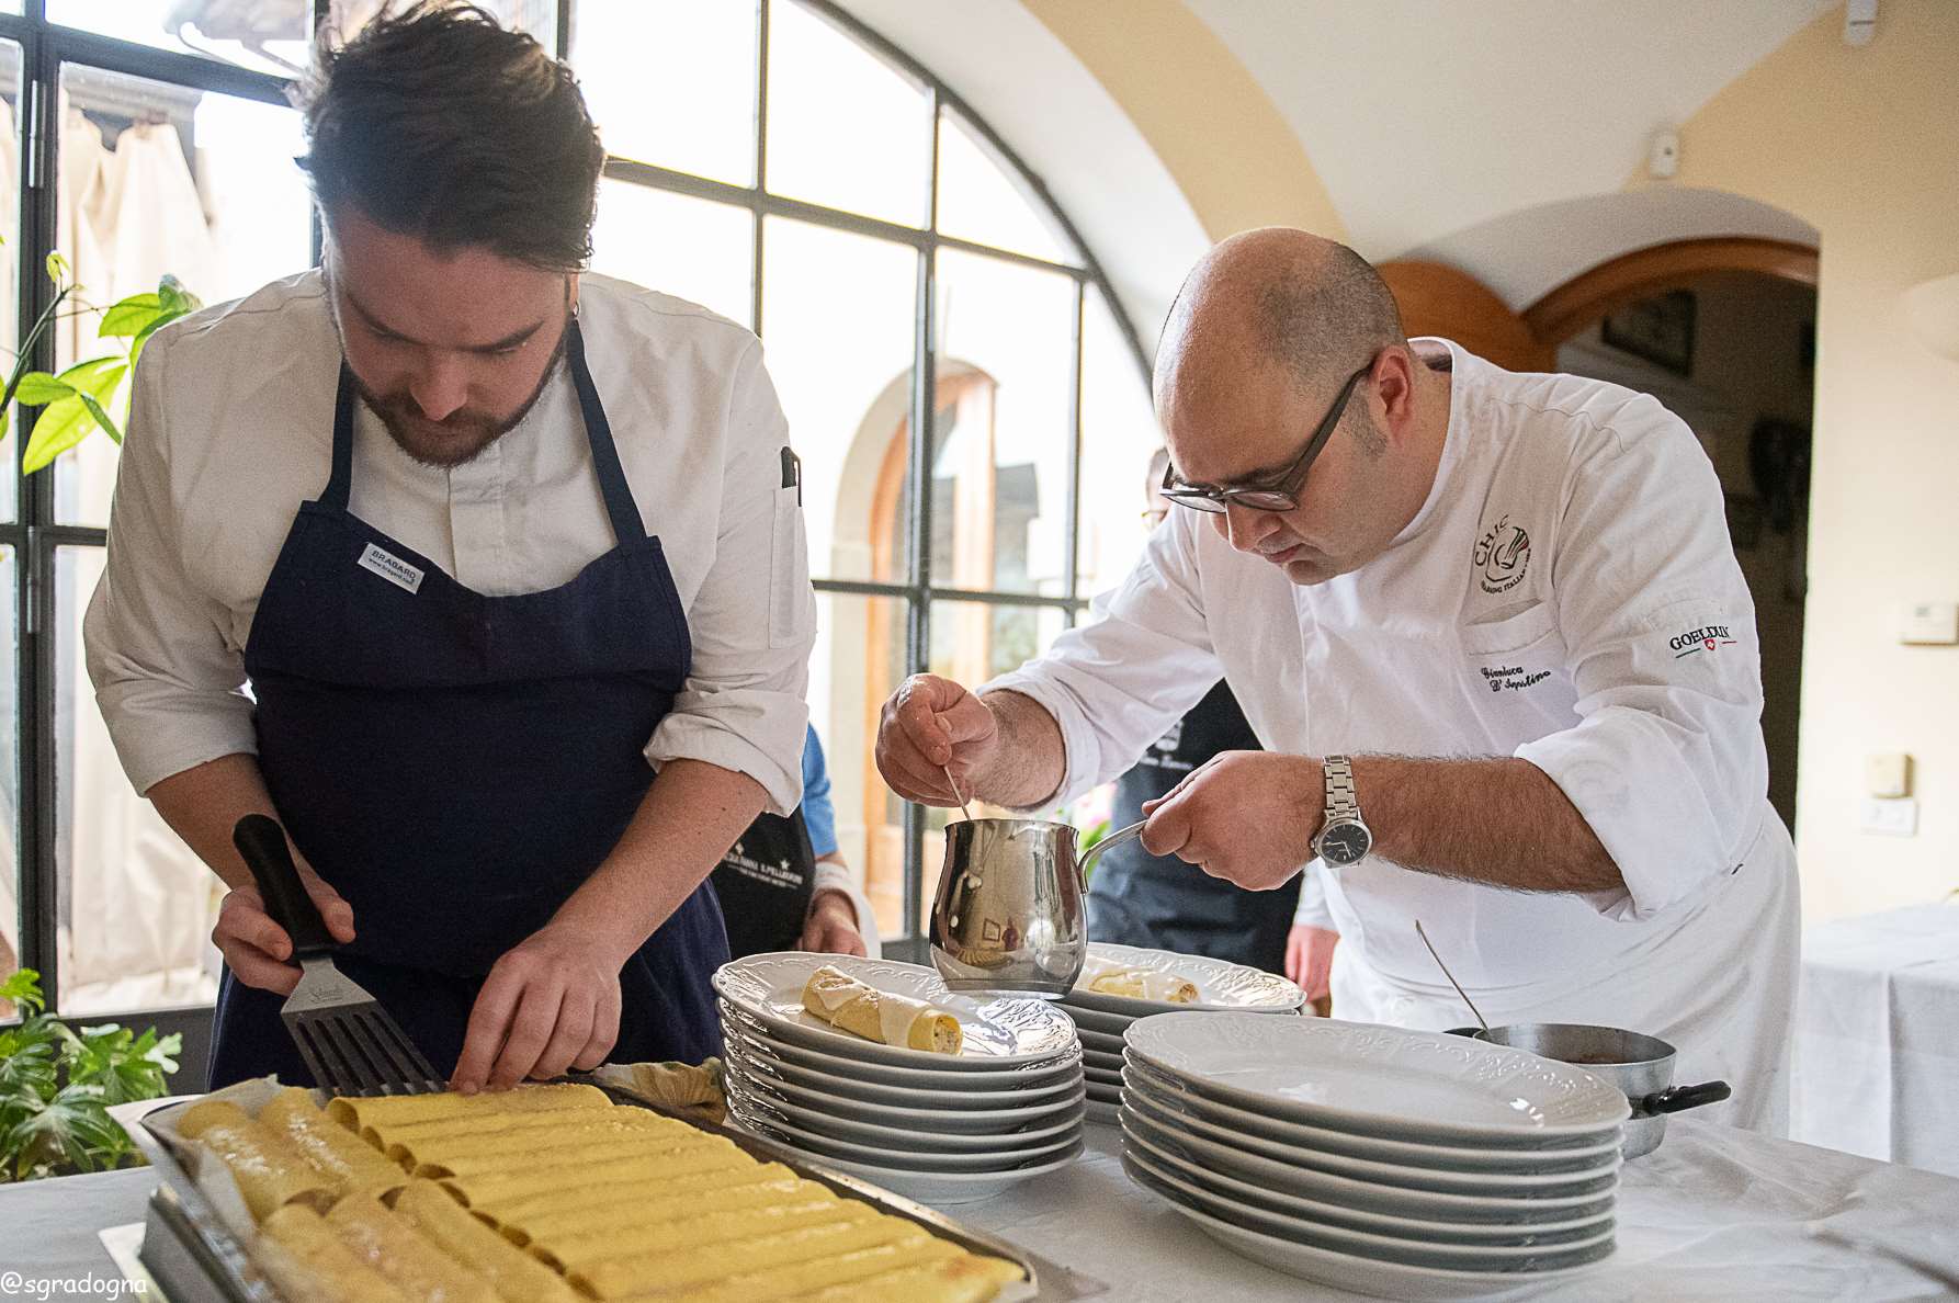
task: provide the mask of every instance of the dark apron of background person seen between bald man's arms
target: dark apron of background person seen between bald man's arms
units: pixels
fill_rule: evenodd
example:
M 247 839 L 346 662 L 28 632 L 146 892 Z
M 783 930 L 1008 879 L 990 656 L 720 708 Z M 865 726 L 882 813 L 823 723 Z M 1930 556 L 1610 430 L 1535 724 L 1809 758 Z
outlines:
M 1220 750 L 1258 750 L 1258 737 L 1224 680 L 1117 780 L 1111 827 L 1142 819 L 1144 801 L 1168 796 Z M 1285 935 L 1297 905 L 1297 876 L 1273 892 L 1246 892 L 1130 841 L 1095 862 L 1089 941 L 1207 954 L 1283 974 Z

